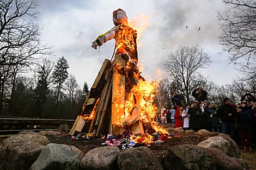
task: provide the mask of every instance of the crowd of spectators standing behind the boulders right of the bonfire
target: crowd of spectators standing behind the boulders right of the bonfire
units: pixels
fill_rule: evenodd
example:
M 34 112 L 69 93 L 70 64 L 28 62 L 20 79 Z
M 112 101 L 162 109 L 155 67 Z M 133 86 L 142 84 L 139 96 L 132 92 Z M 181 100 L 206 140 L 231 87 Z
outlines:
M 228 134 L 236 143 L 248 152 L 252 152 L 252 142 L 256 142 L 256 99 L 246 93 L 241 102 L 232 104 L 230 98 L 224 98 L 217 106 L 208 102 L 207 92 L 201 87 L 192 92 L 195 100 L 186 104 L 181 93 L 173 93 L 170 108 L 161 108 L 159 123 L 175 123 L 175 128 L 198 131 L 206 129 Z

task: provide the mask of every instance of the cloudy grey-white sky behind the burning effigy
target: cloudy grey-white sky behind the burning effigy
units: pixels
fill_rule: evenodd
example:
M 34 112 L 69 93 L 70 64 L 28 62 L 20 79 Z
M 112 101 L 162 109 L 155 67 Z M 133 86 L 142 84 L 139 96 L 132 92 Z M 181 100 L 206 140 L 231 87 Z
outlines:
M 221 0 L 38 0 L 38 4 L 42 39 L 54 51 L 48 58 L 57 61 L 64 56 L 69 62 L 69 73 L 75 75 L 81 87 L 84 81 L 91 87 L 105 58 L 111 59 L 114 40 L 105 43 L 100 52 L 91 44 L 114 26 L 112 12 L 118 8 L 126 11 L 128 20 L 137 14 L 150 14 L 149 26 L 142 33 L 142 46 L 138 47 L 146 79 L 157 79 L 157 68 L 164 72 L 168 53 L 181 45 L 197 46 L 209 53 L 212 63 L 203 74 L 217 85 L 230 84 L 237 76 L 233 66 L 228 66 L 228 54 L 221 53 L 218 45 L 217 11 L 227 8 Z

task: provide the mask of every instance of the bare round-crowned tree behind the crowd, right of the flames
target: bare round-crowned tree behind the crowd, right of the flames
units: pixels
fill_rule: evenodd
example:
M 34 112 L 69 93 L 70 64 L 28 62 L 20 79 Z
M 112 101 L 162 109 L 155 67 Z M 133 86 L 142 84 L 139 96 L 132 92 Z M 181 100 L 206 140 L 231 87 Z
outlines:
M 177 83 L 177 87 L 185 94 L 190 103 L 190 94 L 204 79 L 199 69 L 210 65 L 210 56 L 196 47 L 181 46 L 174 53 L 170 53 L 164 67 L 170 79 Z

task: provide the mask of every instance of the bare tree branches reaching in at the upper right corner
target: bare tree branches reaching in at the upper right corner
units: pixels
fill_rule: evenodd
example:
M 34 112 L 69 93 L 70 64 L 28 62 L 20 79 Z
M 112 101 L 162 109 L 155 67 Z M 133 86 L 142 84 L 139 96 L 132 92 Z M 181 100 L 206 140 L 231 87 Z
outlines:
M 223 0 L 230 5 L 218 13 L 222 34 L 219 36 L 224 51 L 231 54 L 230 63 L 237 69 L 256 77 L 256 1 Z

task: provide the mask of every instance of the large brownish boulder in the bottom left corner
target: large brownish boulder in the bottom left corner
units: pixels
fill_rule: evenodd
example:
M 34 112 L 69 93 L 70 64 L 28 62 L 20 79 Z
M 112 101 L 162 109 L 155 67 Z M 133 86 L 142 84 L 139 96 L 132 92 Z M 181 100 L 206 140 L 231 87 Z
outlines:
M 0 146 L 0 169 L 29 169 L 47 143 L 47 137 L 33 131 L 5 139 Z

